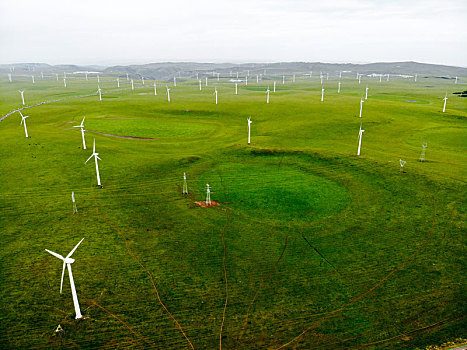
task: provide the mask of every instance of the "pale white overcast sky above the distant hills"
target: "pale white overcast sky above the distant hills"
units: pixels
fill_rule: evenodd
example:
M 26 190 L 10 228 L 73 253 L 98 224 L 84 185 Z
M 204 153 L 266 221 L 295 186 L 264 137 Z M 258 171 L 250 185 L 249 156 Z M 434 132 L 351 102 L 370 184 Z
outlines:
M 1 0 L 0 63 L 467 66 L 466 0 Z

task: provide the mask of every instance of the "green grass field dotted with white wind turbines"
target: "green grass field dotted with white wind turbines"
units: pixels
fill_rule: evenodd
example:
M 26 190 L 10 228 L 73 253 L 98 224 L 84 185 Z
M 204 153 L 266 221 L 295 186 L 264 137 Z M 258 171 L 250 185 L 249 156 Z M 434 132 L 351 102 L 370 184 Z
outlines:
M 227 80 L 199 91 L 180 79 L 168 103 L 161 82 L 154 96 L 152 82 L 113 91 L 103 77 L 99 102 L 72 98 L 95 94 L 95 79 L 3 79 L 0 117 L 22 107 L 19 89 L 27 105 L 64 100 L 22 111 L 28 139 L 19 113 L 0 122 L 0 347 L 417 349 L 465 337 L 467 99 L 452 94 L 465 85 L 346 77 L 338 94 L 330 79 L 322 103 L 316 77 L 277 81 L 266 104 L 272 80 L 234 95 Z M 72 127 L 83 116 L 87 150 Z M 103 189 L 84 164 L 93 139 Z M 201 208 L 207 183 L 220 205 Z M 75 320 L 68 276 L 60 295 L 61 262 L 44 249 L 66 255 L 82 237 Z

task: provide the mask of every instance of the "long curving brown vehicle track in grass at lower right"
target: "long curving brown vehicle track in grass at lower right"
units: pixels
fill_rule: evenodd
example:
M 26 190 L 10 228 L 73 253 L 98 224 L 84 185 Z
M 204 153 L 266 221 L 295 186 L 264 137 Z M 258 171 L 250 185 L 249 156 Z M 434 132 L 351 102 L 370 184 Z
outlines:
M 428 196 L 428 194 L 427 194 L 427 197 L 430 197 L 430 196 Z M 298 334 L 296 337 L 289 340 L 287 343 L 282 344 L 279 347 L 271 347 L 271 348 L 275 349 L 275 350 L 283 349 L 283 348 L 289 346 L 290 344 L 292 344 L 293 342 L 297 341 L 298 339 L 303 337 L 308 331 L 310 331 L 311 329 L 317 327 L 320 323 L 327 320 L 329 317 L 344 311 L 345 309 L 347 309 L 351 305 L 355 304 L 359 300 L 363 299 L 364 297 L 366 297 L 367 295 L 372 293 L 376 288 L 378 288 L 380 285 L 382 285 L 393 274 L 395 274 L 397 271 L 401 270 L 405 265 L 407 265 L 407 263 L 409 261 L 411 261 L 416 255 L 418 255 L 418 253 L 427 245 L 428 241 L 430 240 L 430 238 L 431 238 L 431 236 L 433 234 L 433 231 L 434 231 L 434 228 L 435 228 L 435 225 L 436 225 L 436 216 L 437 216 L 437 212 L 438 212 L 438 203 L 435 201 L 434 198 L 430 197 L 430 199 L 433 201 L 433 204 L 434 204 L 432 225 L 431 225 L 431 228 L 429 229 L 429 231 L 428 231 L 428 233 L 426 235 L 425 240 L 420 245 L 420 247 L 418 247 L 415 250 L 415 252 L 413 252 L 411 255 L 409 255 L 409 257 L 407 257 L 399 266 L 397 266 L 395 269 L 393 269 L 391 272 L 389 272 L 386 276 L 384 276 L 381 280 L 379 280 L 375 285 L 373 285 L 373 287 L 368 289 L 366 292 L 364 292 L 364 293 L 360 294 L 359 296 L 353 298 L 347 304 L 345 304 L 344 306 L 341 306 L 338 309 L 335 309 L 335 310 L 329 311 L 329 312 L 322 312 L 322 313 L 318 313 L 318 314 L 308 316 L 308 317 L 316 317 L 316 316 L 323 316 L 323 317 L 320 318 L 319 320 L 313 322 L 309 327 L 305 328 L 300 334 Z

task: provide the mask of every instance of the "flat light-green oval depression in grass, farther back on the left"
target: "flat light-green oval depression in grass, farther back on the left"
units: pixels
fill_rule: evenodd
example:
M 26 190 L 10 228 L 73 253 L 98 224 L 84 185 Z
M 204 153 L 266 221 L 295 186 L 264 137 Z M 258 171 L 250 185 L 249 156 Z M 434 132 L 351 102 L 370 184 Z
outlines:
M 216 124 L 186 122 L 180 119 L 153 120 L 144 118 L 86 118 L 86 129 L 104 134 L 147 138 L 197 138 L 217 129 Z

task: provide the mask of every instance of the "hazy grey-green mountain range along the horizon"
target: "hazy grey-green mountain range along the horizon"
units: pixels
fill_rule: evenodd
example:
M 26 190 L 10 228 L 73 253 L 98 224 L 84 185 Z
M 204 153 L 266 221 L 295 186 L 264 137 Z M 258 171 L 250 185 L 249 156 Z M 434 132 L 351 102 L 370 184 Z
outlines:
M 197 62 L 161 62 L 141 65 L 127 66 L 78 66 L 78 65 L 49 65 L 45 63 L 16 63 L 1 64 L 0 73 L 7 74 L 14 69 L 13 74 L 18 75 L 40 75 L 50 73 L 73 73 L 73 72 L 102 72 L 106 76 L 145 77 L 147 79 L 172 80 L 174 76 L 181 78 L 194 78 L 198 73 L 200 77 L 220 73 L 221 76 L 236 77 L 237 72 L 240 77 L 245 76 L 249 71 L 250 75 L 290 75 L 293 73 L 319 74 L 320 72 L 334 75 L 339 71 L 347 71 L 361 74 L 406 74 L 427 77 L 453 78 L 466 77 L 467 68 L 444 66 L 437 64 L 417 63 L 417 62 L 378 62 L 369 64 L 353 63 L 321 63 L 321 62 L 278 62 L 278 63 L 197 63 Z

